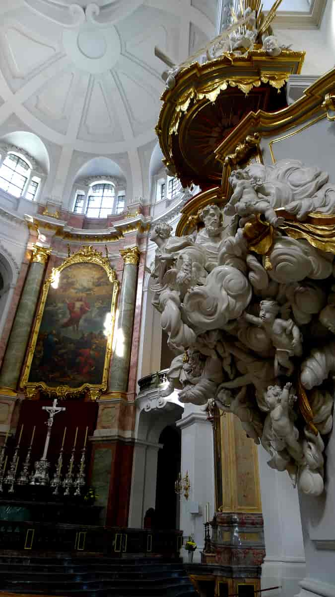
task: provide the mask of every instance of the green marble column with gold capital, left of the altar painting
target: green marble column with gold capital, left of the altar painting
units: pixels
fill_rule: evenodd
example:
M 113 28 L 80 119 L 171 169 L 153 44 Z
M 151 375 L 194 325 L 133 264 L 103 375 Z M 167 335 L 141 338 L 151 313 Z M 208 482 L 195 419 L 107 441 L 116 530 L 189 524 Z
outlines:
M 33 245 L 32 261 L 24 283 L 20 302 L 15 313 L 13 327 L 0 372 L 0 392 L 15 391 L 20 378 L 21 367 L 26 353 L 30 329 L 32 327 L 44 267 L 51 249 Z

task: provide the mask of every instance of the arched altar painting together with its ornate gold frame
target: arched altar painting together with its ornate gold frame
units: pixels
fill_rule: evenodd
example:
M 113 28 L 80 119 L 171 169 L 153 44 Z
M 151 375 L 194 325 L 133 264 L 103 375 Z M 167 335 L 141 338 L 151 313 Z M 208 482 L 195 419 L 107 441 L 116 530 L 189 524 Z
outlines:
M 86 392 L 95 400 L 106 391 L 118 293 L 108 258 L 92 246 L 52 268 L 21 377 L 27 398 L 42 390 L 58 398 Z

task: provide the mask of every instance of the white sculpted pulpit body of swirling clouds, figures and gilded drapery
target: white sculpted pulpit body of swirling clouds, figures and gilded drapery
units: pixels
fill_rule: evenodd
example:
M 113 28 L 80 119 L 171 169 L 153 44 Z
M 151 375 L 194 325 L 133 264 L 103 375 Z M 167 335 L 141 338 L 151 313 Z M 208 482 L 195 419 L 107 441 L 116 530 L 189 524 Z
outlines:
M 224 214 L 173 238 L 157 224 L 153 304 L 179 400 L 236 414 L 306 494 L 324 490 L 324 435 L 333 424 L 335 185 L 285 159 L 232 171 Z M 222 216 L 224 219 L 222 221 Z

